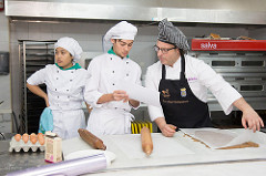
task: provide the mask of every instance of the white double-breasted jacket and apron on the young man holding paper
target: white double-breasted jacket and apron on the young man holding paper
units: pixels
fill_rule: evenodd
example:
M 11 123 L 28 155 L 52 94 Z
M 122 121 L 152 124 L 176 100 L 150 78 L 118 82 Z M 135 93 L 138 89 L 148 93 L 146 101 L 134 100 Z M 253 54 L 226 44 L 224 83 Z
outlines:
M 132 106 L 129 102 L 111 101 L 98 104 L 98 101 L 103 94 L 117 90 L 116 84 L 120 81 L 125 80 L 141 85 L 140 65 L 130 58 L 121 59 L 109 51 L 94 58 L 88 71 L 90 79 L 84 96 L 93 110 L 86 128 L 94 135 L 131 133 L 131 121 L 134 117 L 130 113 Z

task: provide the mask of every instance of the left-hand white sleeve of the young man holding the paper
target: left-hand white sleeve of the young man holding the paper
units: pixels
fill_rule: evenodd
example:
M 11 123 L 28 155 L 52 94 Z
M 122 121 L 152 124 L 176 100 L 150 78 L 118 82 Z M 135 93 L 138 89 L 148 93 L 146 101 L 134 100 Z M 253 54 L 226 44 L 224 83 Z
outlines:
M 85 102 L 92 107 L 101 107 L 103 104 L 98 104 L 98 100 L 103 93 L 98 91 L 100 84 L 101 65 L 95 60 L 92 60 L 88 68 L 89 79 L 85 85 L 84 97 Z

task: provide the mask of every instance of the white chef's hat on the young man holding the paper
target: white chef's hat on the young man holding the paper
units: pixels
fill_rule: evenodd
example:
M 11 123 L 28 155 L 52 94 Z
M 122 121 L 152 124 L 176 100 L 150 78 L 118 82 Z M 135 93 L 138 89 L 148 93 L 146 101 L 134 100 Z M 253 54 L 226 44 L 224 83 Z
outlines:
M 135 25 L 121 21 L 112 27 L 103 38 L 103 51 L 108 52 L 112 48 L 111 39 L 134 40 L 137 29 Z

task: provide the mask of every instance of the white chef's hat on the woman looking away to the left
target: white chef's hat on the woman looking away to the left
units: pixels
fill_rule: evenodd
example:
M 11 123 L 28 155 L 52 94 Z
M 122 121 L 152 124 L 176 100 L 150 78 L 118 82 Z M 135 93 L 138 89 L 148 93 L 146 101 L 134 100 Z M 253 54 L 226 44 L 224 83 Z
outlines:
M 68 50 L 74 58 L 74 62 L 81 58 L 81 53 L 83 52 L 78 41 L 69 37 L 60 38 L 54 44 L 54 52 L 57 48 L 63 48 Z

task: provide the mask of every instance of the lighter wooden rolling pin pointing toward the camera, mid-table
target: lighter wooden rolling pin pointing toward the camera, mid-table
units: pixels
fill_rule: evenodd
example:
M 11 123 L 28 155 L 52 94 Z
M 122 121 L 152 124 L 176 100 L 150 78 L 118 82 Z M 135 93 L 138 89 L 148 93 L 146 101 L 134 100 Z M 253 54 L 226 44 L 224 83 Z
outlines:
M 142 151 L 146 154 L 146 156 L 150 156 L 153 151 L 153 142 L 150 130 L 144 126 L 141 130 L 141 141 L 142 141 Z

